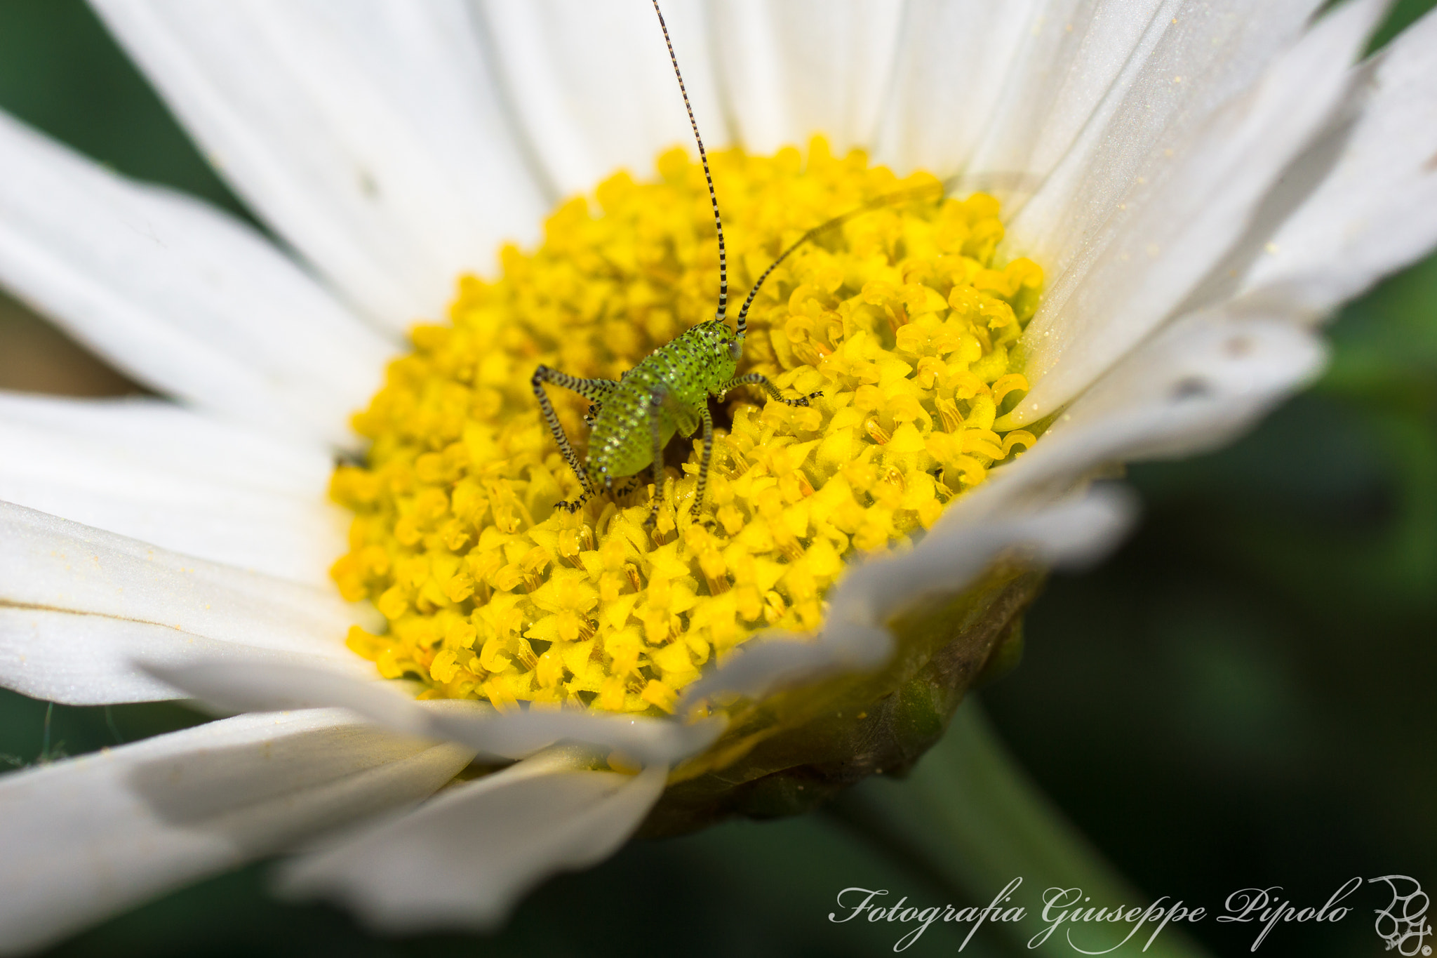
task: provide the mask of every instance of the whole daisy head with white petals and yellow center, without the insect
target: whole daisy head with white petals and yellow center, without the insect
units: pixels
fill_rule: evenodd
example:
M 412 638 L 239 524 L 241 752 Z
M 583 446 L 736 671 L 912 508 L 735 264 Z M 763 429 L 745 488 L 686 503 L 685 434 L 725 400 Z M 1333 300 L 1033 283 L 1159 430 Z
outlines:
M 822 395 L 569 513 L 535 368 L 714 304 L 652 10 L 95 0 L 270 236 L 0 118 L 0 283 L 170 398 L 0 396 L 0 681 L 230 717 L 0 780 L 0 948 L 300 846 L 295 893 L 490 926 L 911 764 L 1124 529 L 1095 478 L 1240 432 L 1437 243 L 1437 16 L 1364 59 L 1385 4 L 1321 6 L 675 1 L 734 289 L 861 214 L 749 316 Z

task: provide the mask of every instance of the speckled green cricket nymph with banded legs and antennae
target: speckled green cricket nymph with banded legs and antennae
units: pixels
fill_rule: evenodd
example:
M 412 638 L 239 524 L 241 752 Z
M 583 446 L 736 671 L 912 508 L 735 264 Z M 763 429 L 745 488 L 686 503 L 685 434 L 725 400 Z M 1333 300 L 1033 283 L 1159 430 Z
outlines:
M 708 200 L 714 208 L 714 225 L 718 231 L 718 309 L 714 319 L 693 326 L 678 339 L 655 349 L 624 373 L 618 382 L 579 379 L 549 366 L 539 366 L 532 379 L 545 422 L 563 452 L 563 458 L 568 460 L 583 487 L 579 498 L 560 503 L 560 506 L 575 511 L 599 490 L 614 491 L 616 480 L 637 477 L 645 467 L 652 467 L 654 504 L 648 513 L 650 526 L 658 516 L 658 503 L 662 498 L 664 447 L 674 437 L 674 432 L 693 435 L 700 425 L 703 427 L 703 455 L 698 470 L 698 490 L 693 504 L 696 518 L 703 508 L 714 444 L 708 396 L 723 399 L 734 386 L 757 385 L 763 386 L 769 396 L 779 402 L 790 406 L 806 406 L 810 398 L 821 395 L 813 392 L 808 396 L 785 399 L 779 395 L 777 388 L 759 373 L 734 375 L 739 359 L 743 356 L 749 306 L 773 267 L 782 263 L 798 244 L 785 250 L 759 277 L 739 312 L 737 329 L 730 329 L 724 322 L 724 310 L 729 303 L 729 269 L 724 254 L 723 220 L 718 217 L 718 198 L 714 195 L 714 181 L 708 172 L 704 141 L 698 136 L 698 124 L 688 105 L 688 92 L 684 89 L 684 78 L 678 72 L 678 60 L 674 56 L 674 46 L 668 40 L 668 27 L 664 26 L 664 14 L 658 9 L 658 0 L 654 0 L 654 11 L 664 30 L 664 42 L 668 43 L 668 57 L 674 65 L 674 76 L 678 78 L 678 89 L 684 96 L 684 106 L 688 109 L 688 122 L 694 129 L 694 139 L 698 142 L 698 159 L 703 162 L 704 178 L 708 181 Z M 810 231 L 799 243 L 810 238 L 813 233 Z M 585 417 L 591 432 L 588 457 L 582 462 L 569 442 L 569 437 L 565 435 L 563 427 L 559 425 L 559 417 L 555 415 L 547 394 L 545 394 L 543 383 L 546 382 L 572 389 L 593 404 Z M 637 478 L 634 481 L 637 483 Z M 622 494 L 631 488 L 632 484 L 625 484 L 616 491 Z

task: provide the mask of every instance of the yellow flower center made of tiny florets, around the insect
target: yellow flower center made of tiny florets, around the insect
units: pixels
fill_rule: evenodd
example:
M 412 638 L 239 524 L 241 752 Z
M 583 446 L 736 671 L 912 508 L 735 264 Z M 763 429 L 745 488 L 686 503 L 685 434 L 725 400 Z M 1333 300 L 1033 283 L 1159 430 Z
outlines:
M 530 388 L 540 363 L 618 379 L 713 317 L 718 248 L 703 171 L 674 149 L 660 178 L 619 172 L 562 204 L 503 276 L 466 276 L 450 323 L 412 330 L 354 418 L 365 465 L 331 493 L 355 513 L 332 575 L 371 599 L 385 635 L 349 646 L 431 698 L 671 711 L 713 659 L 766 628 L 815 631 L 845 560 L 927 529 L 956 496 L 1032 445 L 993 431 L 1027 382 L 1015 345 L 1042 270 L 994 264 L 999 204 L 941 200 L 822 139 L 773 157 L 713 157 L 730 279 L 746 292 L 786 244 L 865 203 L 931 184 L 800 247 L 764 283 L 739 372 L 809 408 L 740 388 L 720 424 L 703 518 L 694 442 L 675 440 L 658 494 L 601 494 L 569 514 L 579 480 Z M 910 194 L 911 197 L 911 194 Z M 731 320 L 730 320 L 731 322 Z M 717 385 L 717 383 L 714 383 Z M 588 401 L 550 388 L 583 455 Z

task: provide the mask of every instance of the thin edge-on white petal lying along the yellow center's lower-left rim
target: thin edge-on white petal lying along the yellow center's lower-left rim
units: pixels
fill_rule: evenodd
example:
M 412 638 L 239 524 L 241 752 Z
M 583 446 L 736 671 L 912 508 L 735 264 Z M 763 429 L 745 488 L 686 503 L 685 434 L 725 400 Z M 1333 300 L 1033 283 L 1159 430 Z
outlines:
M 346 708 L 394 731 L 464 743 L 489 758 L 525 758 L 558 741 L 576 741 L 618 748 L 644 763 L 670 764 L 704 750 L 723 731 L 720 720 L 684 724 L 573 710 L 500 712 L 476 701 L 417 702 L 394 684 L 362 681 L 329 665 L 233 658 L 157 662 L 149 671 L 218 710 Z

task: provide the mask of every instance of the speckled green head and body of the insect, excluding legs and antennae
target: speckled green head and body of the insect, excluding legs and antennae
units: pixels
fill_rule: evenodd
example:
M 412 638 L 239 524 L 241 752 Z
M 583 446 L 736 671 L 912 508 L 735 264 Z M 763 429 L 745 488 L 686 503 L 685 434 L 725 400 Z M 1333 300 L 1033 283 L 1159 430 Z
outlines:
M 589 432 L 589 477 L 604 484 L 654 461 L 651 409 L 658 414 L 661 444 L 674 432 L 690 435 L 708 395 L 733 379 L 739 363 L 734 340 L 723 322 L 698 323 L 624 373 Z

